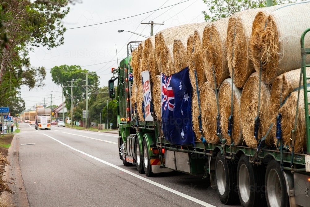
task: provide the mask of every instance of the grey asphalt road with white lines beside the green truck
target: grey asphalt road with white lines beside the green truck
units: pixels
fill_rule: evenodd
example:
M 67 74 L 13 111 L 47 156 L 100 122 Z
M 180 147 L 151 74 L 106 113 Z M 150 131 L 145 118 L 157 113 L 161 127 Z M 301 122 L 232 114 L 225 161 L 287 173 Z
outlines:
M 209 179 L 149 178 L 119 159 L 117 134 L 20 124 L 19 164 L 30 207 L 225 206 Z M 33 144 L 33 145 L 22 145 Z

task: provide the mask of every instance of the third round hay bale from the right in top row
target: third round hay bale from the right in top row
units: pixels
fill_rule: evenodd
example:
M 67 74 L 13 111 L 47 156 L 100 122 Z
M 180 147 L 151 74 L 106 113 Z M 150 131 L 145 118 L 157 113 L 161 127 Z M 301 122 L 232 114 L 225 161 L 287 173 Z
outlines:
M 210 28 L 205 28 L 202 39 L 204 70 L 206 78 L 213 88 L 215 88 L 213 67 L 217 88 L 229 77 L 226 52 L 228 19 L 220 19 L 213 22 Z

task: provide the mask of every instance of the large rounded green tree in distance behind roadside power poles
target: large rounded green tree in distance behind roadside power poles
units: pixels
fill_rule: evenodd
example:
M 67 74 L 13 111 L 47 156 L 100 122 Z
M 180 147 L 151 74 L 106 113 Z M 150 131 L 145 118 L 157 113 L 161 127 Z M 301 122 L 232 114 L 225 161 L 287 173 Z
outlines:
M 88 85 L 90 86 L 90 90 L 97 90 L 99 85 L 99 77 L 95 72 L 90 72 L 88 70 L 83 70 L 79 65 L 60 65 L 55 66 L 51 69 L 52 80 L 56 85 L 64 86 L 64 96 L 66 98 L 66 107 L 69 110 L 71 108 L 71 83 L 74 79 L 73 83 L 73 105 L 74 103 L 78 103 L 83 101 L 86 98 L 86 90 L 85 90 L 85 78 L 86 74 L 88 74 Z M 90 93 L 91 94 L 91 93 Z M 92 96 L 92 95 L 90 95 Z

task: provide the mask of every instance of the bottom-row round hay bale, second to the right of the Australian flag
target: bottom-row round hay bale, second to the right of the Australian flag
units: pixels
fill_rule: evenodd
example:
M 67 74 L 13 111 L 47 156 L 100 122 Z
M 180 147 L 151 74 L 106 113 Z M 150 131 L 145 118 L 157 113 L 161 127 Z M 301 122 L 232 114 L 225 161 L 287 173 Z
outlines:
M 208 143 L 218 143 L 219 137 L 216 135 L 216 97 L 214 89 L 208 82 L 201 87 L 200 106 L 203 135 Z

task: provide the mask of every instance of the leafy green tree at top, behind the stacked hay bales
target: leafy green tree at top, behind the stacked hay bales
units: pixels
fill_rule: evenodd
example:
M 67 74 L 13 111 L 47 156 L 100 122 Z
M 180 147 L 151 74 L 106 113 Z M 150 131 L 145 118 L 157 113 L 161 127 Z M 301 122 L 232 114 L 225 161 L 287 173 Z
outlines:
M 205 20 L 213 22 L 232 14 L 248 9 L 266 7 L 266 0 L 203 0 L 208 5 L 207 11 L 202 11 Z M 273 5 L 296 2 L 296 0 L 273 0 Z

